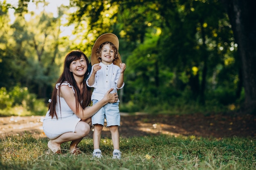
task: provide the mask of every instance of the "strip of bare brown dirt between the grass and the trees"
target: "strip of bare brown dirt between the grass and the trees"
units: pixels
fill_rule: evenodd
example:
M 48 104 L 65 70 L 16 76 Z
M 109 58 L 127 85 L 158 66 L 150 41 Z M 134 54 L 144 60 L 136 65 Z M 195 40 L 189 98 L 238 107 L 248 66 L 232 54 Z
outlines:
M 46 137 L 42 124 L 43 116 L 0 117 L 0 136 L 31 133 L 36 138 Z M 92 137 L 92 130 L 89 137 Z M 120 137 L 147 135 L 173 135 L 196 137 L 255 137 L 256 116 L 254 115 L 128 115 L 121 114 Z M 102 137 L 110 138 L 104 127 Z

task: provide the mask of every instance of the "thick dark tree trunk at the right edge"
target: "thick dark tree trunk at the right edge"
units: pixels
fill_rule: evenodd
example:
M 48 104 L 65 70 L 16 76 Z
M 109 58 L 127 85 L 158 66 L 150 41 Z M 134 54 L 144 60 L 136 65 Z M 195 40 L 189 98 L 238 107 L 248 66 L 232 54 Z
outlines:
M 245 88 L 245 109 L 256 111 L 256 1 L 222 0 L 238 42 Z

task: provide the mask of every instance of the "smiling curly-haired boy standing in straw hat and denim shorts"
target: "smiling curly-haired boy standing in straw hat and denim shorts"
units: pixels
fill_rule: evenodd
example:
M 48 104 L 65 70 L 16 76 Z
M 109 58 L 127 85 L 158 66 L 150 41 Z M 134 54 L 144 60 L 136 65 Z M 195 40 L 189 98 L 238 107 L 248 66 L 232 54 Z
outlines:
M 86 80 L 89 87 L 93 87 L 92 104 L 100 101 L 106 91 L 114 88 L 112 93 L 124 87 L 124 71 L 126 64 L 121 63 L 121 56 L 118 52 L 119 40 L 115 34 L 105 33 L 96 40 L 92 47 L 91 64 L 92 71 Z M 117 95 L 118 99 L 118 95 Z M 92 116 L 93 132 L 93 157 L 101 158 L 99 149 L 101 131 L 104 126 L 104 119 L 107 120 L 114 146 L 113 159 L 121 159 L 119 150 L 119 132 L 120 113 L 119 99 L 117 103 L 108 103 L 103 106 L 95 115 Z

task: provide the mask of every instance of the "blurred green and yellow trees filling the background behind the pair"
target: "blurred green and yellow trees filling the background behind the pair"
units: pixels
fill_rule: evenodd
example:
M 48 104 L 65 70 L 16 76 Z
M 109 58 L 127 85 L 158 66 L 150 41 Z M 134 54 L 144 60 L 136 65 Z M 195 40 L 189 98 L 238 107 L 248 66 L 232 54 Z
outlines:
M 122 111 L 255 113 L 256 5 L 250 1 L 70 0 L 57 15 L 44 10 L 45 0 L 2 1 L 0 87 L 26 87 L 47 102 L 65 54 L 80 49 L 90 58 L 97 37 L 112 32 L 127 65 Z M 29 10 L 30 3 L 43 10 Z

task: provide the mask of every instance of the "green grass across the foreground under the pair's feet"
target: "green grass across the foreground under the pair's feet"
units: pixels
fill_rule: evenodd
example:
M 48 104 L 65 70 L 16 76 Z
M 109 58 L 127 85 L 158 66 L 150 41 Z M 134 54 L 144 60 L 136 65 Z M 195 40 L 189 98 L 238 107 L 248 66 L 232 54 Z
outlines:
M 112 160 L 112 143 L 101 140 L 103 158 L 92 160 L 92 139 L 79 144 L 81 155 L 47 154 L 47 138 L 30 134 L 0 140 L 1 170 L 253 170 L 256 169 L 256 140 L 222 140 L 191 137 L 150 136 L 121 138 L 121 160 Z M 147 157 L 148 155 L 149 157 Z

